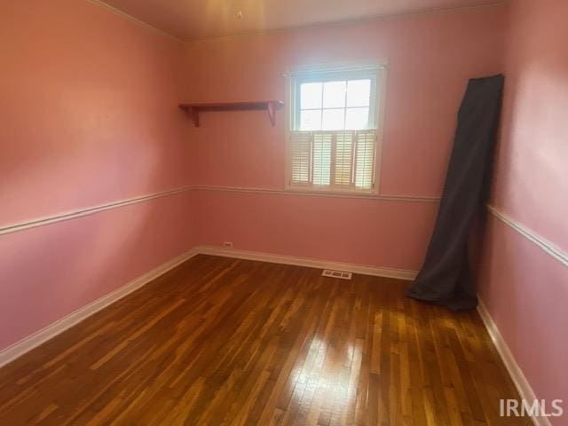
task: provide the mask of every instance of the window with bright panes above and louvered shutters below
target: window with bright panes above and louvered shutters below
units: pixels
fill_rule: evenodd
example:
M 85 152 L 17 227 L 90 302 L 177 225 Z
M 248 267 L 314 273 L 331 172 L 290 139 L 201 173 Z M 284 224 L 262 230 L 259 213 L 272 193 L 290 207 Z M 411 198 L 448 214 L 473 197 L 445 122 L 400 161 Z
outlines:
M 290 74 L 288 187 L 375 192 L 384 67 Z

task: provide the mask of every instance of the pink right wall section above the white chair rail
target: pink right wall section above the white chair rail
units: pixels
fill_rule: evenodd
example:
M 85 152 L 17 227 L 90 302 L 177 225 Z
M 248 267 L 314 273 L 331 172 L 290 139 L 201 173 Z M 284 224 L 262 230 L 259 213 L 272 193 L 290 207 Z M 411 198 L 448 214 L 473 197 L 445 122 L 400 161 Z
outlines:
M 568 3 L 512 2 L 493 205 L 568 251 Z

